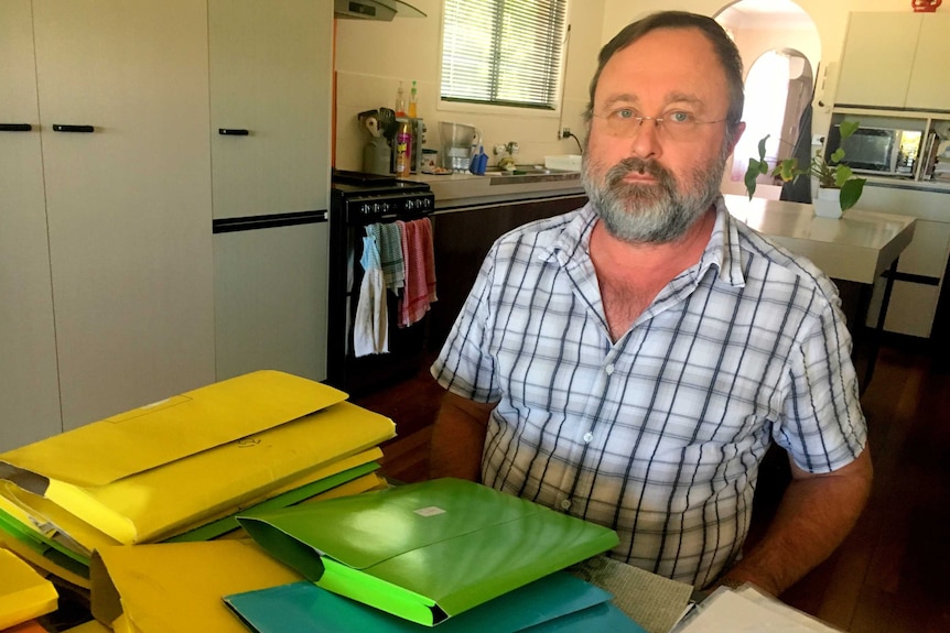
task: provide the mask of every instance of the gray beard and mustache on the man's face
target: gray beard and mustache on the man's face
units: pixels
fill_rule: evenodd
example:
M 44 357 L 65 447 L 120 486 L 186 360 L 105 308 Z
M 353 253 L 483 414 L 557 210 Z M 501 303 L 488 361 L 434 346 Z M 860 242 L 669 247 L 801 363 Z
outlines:
M 587 197 L 612 236 L 629 243 L 666 244 L 682 238 L 719 196 L 727 157 L 724 148 L 705 168 L 688 174 L 680 188 L 662 165 L 634 157 L 620 161 L 598 179 L 585 152 L 581 177 Z M 650 174 L 657 183 L 624 182 L 633 172 Z

